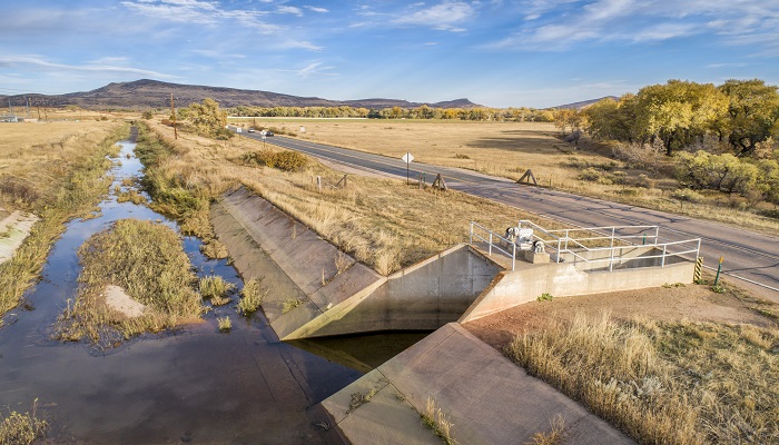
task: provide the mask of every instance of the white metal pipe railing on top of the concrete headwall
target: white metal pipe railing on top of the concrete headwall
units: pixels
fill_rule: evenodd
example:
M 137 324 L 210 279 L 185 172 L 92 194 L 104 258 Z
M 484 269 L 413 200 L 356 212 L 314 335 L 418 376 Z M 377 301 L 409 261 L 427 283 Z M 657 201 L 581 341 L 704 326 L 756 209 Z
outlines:
M 574 263 L 598 264 L 608 261 L 609 271 L 613 270 L 615 264 L 619 266 L 633 260 L 660 258 L 660 267 L 665 267 L 669 258 L 682 257 L 689 254 L 694 254 L 696 257 L 700 255 L 700 238 L 660 243 L 660 226 L 604 226 L 548 230 L 533 221 L 523 219 L 519 221 L 517 228 L 532 228 L 533 235 L 531 240 L 542 241 L 546 250 L 554 251 L 553 260 L 555 263 L 564 261 L 565 257 L 569 257 Z M 575 236 L 576 234 L 582 235 Z M 514 240 L 497 235 L 486 227 L 472 221 L 471 244 L 473 244 L 474 239 L 487 244 L 490 256 L 492 256 L 494 248 L 511 257 L 511 269 L 515 269 L 517 248 Z M 641 240 L 640 244 L 638 239 Z M 625 253 L 632 250 L 631 248 L 640 246 L 652 246 L 653 249 L 662 250 L 662 253 L 625 257 Z M 678 250 L 679 248 L 681 250 Z

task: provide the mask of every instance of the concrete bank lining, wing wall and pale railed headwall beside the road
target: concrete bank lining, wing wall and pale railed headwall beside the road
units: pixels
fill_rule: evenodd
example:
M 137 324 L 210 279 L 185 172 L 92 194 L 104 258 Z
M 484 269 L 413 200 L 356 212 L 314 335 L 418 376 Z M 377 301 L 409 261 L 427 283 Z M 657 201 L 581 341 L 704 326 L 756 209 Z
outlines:
M 535 254 L 527 263 L 511 261 L 495 246 L 489 255 L 489 246 L 474 244 L 454 246 L 384 277 L 246 188 L 215 202 L 211 218 L 244 278 L 263 278 L 269 290 L 263 309 L 285 340 L 434 330 L 544 293 L 564 297 L 691 283 L 694 268 L 655 245 L 565 250 L 561 263 Z

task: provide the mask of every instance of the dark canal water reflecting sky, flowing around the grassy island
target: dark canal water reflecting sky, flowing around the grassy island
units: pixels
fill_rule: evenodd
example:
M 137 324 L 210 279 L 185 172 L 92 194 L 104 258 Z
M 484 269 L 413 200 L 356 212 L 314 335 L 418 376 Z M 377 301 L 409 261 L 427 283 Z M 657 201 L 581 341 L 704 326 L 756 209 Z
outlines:
M 115 185 L 140 178 L 131 140 L 118 142 Z M 126 187 L 122 187 L 126 189 Z M 109 350 L 51 339 L 57 316 L 76 298 L 77 249 L 124 218 L 176 222 L 114 194 L 90 219 L 73 220 L 55 244 L 42 280 L 0 329 L 0 409 L 27 412 L 51 425 L 53 443 L 88 444 L 331 444 L 339 438 L 316 407 L 424 334 L 279 342 L 262 313 L 240 316 L 216 307 L 199 324 L 148 334 Z M 205 258 L 200 241 L 184 237 L 198 276 L 220 275 L 240 289 L 226 260 Z M 237 296 L 233 296 L 237 300 Z M 229 333 L 217 317 L 228 316 Z M 321 342 L 321 343 L 319 343 Z

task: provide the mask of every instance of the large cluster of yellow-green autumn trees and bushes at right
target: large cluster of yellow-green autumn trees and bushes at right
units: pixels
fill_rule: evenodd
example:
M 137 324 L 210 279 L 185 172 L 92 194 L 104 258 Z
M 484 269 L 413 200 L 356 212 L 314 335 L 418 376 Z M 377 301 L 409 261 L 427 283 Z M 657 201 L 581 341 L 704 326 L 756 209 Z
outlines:
M 669 80 L 583 110 L 555 110 L 554 123 L 563 134 L 620 142 L 615 154 L 662 151 L 684 187 L 779 204 L 779 90 L 763 80 Z

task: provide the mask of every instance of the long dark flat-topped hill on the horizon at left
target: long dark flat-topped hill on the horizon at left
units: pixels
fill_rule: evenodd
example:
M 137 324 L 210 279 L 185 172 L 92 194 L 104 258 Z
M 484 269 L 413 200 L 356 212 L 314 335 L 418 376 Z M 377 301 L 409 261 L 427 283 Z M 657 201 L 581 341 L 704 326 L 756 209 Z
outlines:
M 423 102 L 410 102 L 398 99 L 361 99 L 361 100 L 328 100 L 317 97 L 298 97 L 269 91 L 240 90 L 235 88 L 206 87 L 197 85 L 181 85 L 160 82 L 157 80 L 136 80 L 132 82 L 109 83 L 102 88 L 86 92 L 70 92 L 67 95 L 17 95 L 1 97 L 4 103 L 11 100 L 13 106 L 22 106 L 26 98 L 33 106 L 65 107 L 78 106 L 85 109 L 146 109 L 170 107 L 170 95 L 174 95 L 177 106 L 188 106 L 199 102 L 205 98 L 211 98 L 223 108 L 238 106 L 247 107 L 363 107 L 368 109 L 384 109 L 392 107 L 414 108 L 425 105 Z M 475 108 L 481 107 L 467 99 L 448 100 L 444 102 L 427 102 L 435 108 Z

